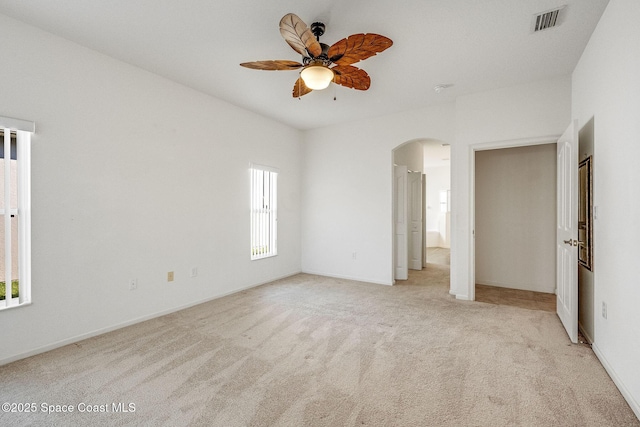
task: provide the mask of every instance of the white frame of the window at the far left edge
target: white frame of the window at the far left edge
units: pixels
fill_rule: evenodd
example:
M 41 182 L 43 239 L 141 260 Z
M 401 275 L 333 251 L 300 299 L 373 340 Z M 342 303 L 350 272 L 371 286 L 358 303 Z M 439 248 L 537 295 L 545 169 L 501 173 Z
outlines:
M 0 311 L 22 307 L 31 304 L 31 135 L 35 133 L 35 123 L 0 117 L 0 130 L 3 133 L 0 143 L 4 144 L 4 156 L 0 161 L 5 163 L 5 208 L 0 210 L 0 227 L 5 229 L 5 252 L 11 254 L 11 231 L 10 221 L 12 215 L 18 219 L 18 280 L 19 295 L 13 298 L 12 279 L 5 277 L 5 299 L 0 300 Z M 9 162 L 11 160 L 11 139 L 15 135 L 16 140 L 16 166 L 17 166 L 17 206 L 12 208 L 9 202 L 11 182 Z M 7 148 L 8 144 L 8 150 Z M 8 159 L 7 159 L 8 157 Z M 9 232 L 7 232 L 9 229 Z M 7 241 L 9 243 L 7 243 Z M 8 249 L 8 251 L 7 251 Z M 9 255 L 11 257 L 11 255 Z M 5 270 L 9 261 L 5 257 Z M 6 271 L 5 271 L 6 272 Z M 9 273 L 10 267 L 9 267 Z M 8 274 L 10 276 L 10 274 Z M 8 283 L 7 283 L 8 282 Z

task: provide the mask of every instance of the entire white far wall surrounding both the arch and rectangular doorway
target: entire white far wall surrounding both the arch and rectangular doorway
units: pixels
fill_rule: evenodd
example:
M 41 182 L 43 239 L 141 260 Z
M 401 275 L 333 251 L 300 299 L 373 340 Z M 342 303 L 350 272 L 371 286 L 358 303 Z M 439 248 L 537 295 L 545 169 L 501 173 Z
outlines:
M 570 122 L 570 107 L 571 82 L 564 76 L 305 132 L 303 271 L 393 283 L 392 150 L 437 139 L 451 143 L 451 289 L 469 298 L 470 153 L 483 143 L 559 136 Z

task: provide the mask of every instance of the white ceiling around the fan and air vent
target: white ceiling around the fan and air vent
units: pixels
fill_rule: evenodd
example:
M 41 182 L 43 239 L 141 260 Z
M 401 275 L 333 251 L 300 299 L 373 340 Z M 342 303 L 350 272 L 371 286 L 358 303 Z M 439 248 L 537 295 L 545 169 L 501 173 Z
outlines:
M 298 129 L 449 103 L 456 96 L 573 71 L 608 0 L 0 0 L 0 13 Z M 533 15 L 566 5 L 532 34 Z M 394 45 L 356 64 L 368 91 L 331 85 L 294 99 L 298 71 L 240 67 L 300 60 L 280 18 L 326 24 L 321 41 L 378 33 Z M 454 84 L 436 94 L 436 84 Z M 337 100 L 333 100 L 334 96 Z

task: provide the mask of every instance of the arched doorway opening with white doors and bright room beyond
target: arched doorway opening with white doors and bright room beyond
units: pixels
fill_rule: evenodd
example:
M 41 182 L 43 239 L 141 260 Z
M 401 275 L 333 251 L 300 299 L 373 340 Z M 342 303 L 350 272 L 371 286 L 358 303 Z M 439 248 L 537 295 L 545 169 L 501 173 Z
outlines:
M 393 271 L 407 280 L 409 270 L 450 259 L 451 167 L 449 144 L 434 139 L 408 141 L 392 152 Z

